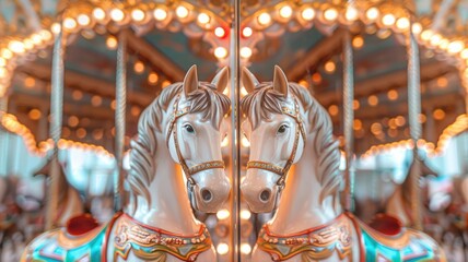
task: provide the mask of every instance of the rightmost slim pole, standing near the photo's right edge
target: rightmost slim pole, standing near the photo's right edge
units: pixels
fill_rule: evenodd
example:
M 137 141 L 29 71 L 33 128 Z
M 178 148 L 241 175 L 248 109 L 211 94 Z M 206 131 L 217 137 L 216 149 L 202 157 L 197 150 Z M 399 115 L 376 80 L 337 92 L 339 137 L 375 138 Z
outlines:
M 409 174 L 411 179 L 411 210 L 414 219 L 414 228 L 422 230 L 421 217 L 421 198 L 419 178 L 421 175 L 421 163 L 418 152 L 418 140 L 421 139 L 421 122 L 419 116 L 421 114 L 421 86 L 420 86 L 420 63 L 419 63 L 419 47 L 412 31 L 408 33 L 408 118 L 410 126 L 410 136 L 413 142 L 414 168 Z

